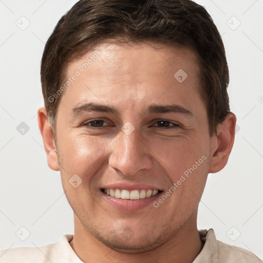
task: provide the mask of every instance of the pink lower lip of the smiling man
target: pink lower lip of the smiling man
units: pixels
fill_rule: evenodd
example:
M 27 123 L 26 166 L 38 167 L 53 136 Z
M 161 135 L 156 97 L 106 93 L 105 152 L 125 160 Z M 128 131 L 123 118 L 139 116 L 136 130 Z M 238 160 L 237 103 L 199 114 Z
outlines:
M 159 198 L 159 196 L 162 194 L 162 192 L 151 196 L 146 197 L 142 199 L 136 199 L 136 200 L 130 200 L 130 199 L 121 199 L 121 198 L 115 198 L 110 195 L 107 195 L 103 192 L 101 192 L 103 195 L 103 198 L 106 199 L 111 205 L 115 206 L 115 208 L 125 211 L 136 211 L 142 208 L 145 208 L 145 206 L 152 204 L 153 202 Z

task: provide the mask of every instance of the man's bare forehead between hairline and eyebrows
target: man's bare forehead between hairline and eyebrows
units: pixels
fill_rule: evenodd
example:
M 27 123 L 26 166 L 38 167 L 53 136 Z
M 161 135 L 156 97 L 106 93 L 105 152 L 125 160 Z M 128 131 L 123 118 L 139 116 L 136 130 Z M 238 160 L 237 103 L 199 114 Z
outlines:
M 199 96 L 197 55 L 190 48 L 153 42 L 102 43 L 69 63 L 66 80 L 72 79 L 62 101 L 78 104 L 152 104 Z M 191 104 L 191 103 L 190 103 Z

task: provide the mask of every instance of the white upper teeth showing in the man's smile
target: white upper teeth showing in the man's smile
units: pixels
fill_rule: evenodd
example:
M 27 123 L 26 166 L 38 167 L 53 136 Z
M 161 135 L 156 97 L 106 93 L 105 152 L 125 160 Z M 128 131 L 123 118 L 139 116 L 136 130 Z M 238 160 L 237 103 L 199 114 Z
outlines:
M 158 193 L 158 190 L 128 191 L 120 189 L 104 189 L 104 193 L 115 198 L 136 200 L 156 195 Z

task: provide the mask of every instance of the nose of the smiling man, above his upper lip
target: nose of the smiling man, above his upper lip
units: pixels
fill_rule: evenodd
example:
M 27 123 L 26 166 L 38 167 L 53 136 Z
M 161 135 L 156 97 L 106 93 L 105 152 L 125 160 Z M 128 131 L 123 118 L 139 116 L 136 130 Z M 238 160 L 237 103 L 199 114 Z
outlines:
M 136 175 L 140 170 L 152 167 L 151 149 L 138 130 L 125 134 L 122 130 L 111 146 L 109 166 L 126 176 Z

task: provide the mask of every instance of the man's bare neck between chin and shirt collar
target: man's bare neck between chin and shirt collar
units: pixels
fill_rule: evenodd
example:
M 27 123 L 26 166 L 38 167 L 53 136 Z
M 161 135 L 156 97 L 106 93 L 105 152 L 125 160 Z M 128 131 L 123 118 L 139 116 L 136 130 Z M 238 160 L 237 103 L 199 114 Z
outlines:
M 185 262 L 190 263 L 203 248 L 196 227 L 197 211 L 185 222 L 184 226 L 170 240 L 156 249 L 142 253 L 123 253 L 112 250 L 93 237 L 74 214 L 74 237 L 70 246 L 85 263 L 91 262 Z

